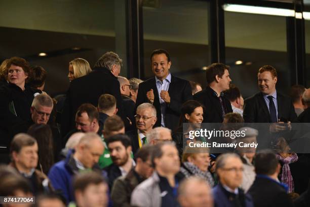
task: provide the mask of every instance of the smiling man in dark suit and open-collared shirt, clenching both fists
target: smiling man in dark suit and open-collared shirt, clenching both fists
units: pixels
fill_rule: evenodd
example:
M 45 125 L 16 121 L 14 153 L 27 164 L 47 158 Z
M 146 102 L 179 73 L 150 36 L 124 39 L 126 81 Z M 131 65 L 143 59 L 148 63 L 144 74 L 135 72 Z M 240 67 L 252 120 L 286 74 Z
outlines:
M 182 104 L 192 99 L 190 84 L 169 73 L 171 60 L 166 50 L 154 50 L 150 59 L 155 77 L 139 84 L 136 107 L 141 103 L 151 103 L 157 111 L 155 126 L 174 130 L 179 122 Z

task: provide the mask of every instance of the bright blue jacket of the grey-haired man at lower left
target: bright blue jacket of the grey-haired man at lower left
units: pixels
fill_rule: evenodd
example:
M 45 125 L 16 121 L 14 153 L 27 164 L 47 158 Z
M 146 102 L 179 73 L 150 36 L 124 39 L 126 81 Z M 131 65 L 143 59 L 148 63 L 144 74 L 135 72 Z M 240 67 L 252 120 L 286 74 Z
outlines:
M 55 163 L 49 171 L 49 179 L 55 190 L 61 190 L 62 195 L 66 198 L 67 203 L 74 201 L 72 180 L 79 174 L 79 168 L 73 159 L 74 150 L 70 150 L 65 160 Z M 93 170 L 102 171 L 98 165 L 93 166 Z M 103 175 L 106 178 L 105 175 Z

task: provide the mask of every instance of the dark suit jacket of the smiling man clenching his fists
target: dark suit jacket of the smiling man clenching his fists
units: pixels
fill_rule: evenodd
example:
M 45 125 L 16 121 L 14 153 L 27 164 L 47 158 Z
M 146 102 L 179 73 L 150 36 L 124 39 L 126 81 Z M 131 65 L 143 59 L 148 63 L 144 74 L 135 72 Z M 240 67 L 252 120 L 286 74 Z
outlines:
M 154 92 L 153 106 L 157 111 L 157 122 L 154 127 L 157 127 L 161 126 L 162 115 L 155 77 L 139 84 L 136 107 L 138 107 L 141 103 L 148 102 L 146 93 L 150 89 L 153 89 Z M 182 104 L 185 101 L 192 99 L 191 87 L 188 81 L 171 75 L 171 83 L 169 85 L 168 93 L 170 95 L 170 104 L 167 105 L 166 114 L 164 116 L 165 126 L 171 130 L 174 130 L 178 126 Z

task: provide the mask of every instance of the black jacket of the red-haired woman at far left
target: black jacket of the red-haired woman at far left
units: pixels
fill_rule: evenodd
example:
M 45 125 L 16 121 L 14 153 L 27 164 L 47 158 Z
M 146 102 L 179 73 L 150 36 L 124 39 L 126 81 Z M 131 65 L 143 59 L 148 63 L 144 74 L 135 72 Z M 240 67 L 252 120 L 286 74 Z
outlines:
M 0 87 L 0 146 L 11 143 L 10 131 L 13 126 L 31 120 L 30 107 L 34 94 L 41 92 L 28 85 L 25 85 L 24 91 L 11 83 Z

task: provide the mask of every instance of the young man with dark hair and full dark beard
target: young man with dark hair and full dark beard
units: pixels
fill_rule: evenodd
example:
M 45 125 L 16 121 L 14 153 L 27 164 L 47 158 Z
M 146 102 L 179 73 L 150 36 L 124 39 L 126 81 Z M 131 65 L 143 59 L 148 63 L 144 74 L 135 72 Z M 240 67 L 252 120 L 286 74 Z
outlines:
M 131 142 L 127 135 L 116 134 L 108 137 L 105 142 L 113 163 L 103 169 L 107 172 L 108 185 L 112 190 L 114 180 L 126 176 L 136 164 L 131 158 Z

